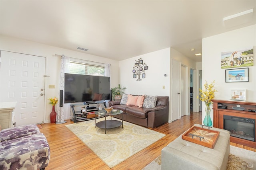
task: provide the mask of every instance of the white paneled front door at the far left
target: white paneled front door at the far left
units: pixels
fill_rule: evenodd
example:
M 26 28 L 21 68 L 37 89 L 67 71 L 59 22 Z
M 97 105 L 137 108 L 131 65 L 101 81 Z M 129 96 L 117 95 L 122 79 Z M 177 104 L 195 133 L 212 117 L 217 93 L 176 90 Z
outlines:
M 45 57 L 1 51 L 0 102 L 17 102 L 16 126 L 44 123 Z

